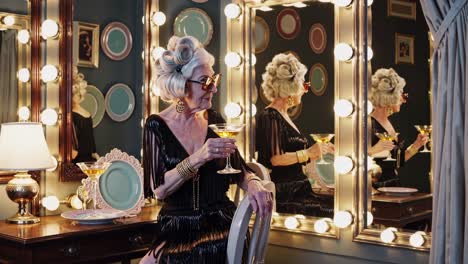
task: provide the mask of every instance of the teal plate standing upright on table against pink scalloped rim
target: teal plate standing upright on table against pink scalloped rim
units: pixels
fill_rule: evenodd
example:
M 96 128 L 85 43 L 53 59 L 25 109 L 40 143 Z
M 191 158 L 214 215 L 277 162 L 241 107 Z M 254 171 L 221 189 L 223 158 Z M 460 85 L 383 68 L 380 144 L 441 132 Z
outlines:
M 137 171 L 127 162 L 113 161 L 99 178 L 102 199 L 117 210 L 132 209 L 142 195 L 142 183 Z

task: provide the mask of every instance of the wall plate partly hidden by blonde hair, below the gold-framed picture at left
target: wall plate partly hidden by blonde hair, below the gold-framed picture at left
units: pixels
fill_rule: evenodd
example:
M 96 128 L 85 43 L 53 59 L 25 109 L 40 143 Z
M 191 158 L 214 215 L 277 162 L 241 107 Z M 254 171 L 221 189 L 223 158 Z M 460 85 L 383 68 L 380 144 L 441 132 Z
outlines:
M 93 127 L 97 127 L 104 116 L 104 96 L 101 91 L 94 85 L 88 85 L 86 87 L 86 94 L 80 105 L 91 114 Z

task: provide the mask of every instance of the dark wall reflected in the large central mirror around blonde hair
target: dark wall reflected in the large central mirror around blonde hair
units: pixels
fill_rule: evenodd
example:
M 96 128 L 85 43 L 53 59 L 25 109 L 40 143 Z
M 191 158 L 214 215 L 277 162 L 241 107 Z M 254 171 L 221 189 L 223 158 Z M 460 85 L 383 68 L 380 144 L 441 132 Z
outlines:
M 257 16 L 265 19 L 270 27 L 270 42 L 265 51 L 256 54 L 257 63 L 255 65 L 255 83 L 258 93 L 263 93 L 261 89 L 262 74 L 265 72 L 266 65 L 273 57 L 281 52 L 294 51 L 300 57 L 300 61 L 307 67 L 305 79 L 309 79 L 309 70 L 315 63 L 321 63 L 328 72 L 328 85 L 323 95 L 317 96 L 312 92 L 302 97 L 302 112 L 294 120 L 298 128 L 306 135 L 310 133 L 333 133 L 334 131 L 334 6 L 327 3 L 307 2 L 309 5 L 305 8 L 294 8 L 301 18 L 301 30 L 299 35 L 292 39 L 283 39 L 276 29 L 276 17 L 279 12 L 286 7 L 281 5 L 274 6 L 273 11 L 257 11 Z M 327 46 L 323 53 L 316 54 L 309 46 L 309 29 L 315 23 L 321 23 L 327 32 Z M 265 108 L 265 103 L 258 96 L 256 103 L 258 111 Z M 309 138 L 309 140 L 311 140 Z

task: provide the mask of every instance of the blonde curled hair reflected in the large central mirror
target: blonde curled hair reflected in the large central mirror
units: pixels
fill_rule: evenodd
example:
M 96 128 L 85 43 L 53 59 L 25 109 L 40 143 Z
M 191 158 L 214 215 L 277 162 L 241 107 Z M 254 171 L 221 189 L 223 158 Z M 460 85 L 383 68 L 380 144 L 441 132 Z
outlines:
M 275 55 L 262 75 L 263 94 L 270 101 L 299 94 L 303 89 L 306 72 L 307 68 L 294 55 Z

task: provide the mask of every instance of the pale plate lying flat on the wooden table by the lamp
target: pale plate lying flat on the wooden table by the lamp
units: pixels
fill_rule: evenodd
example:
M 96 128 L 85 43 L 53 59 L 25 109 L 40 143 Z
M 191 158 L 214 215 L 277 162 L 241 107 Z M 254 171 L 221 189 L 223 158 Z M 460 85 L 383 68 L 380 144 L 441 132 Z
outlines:
M 125 212 L 115 209 L 87 209 L 67 211 L 62 213 L 61 216 L 83 225 L 101 225 L 108 224 L 114 219 L 125 216 Z

